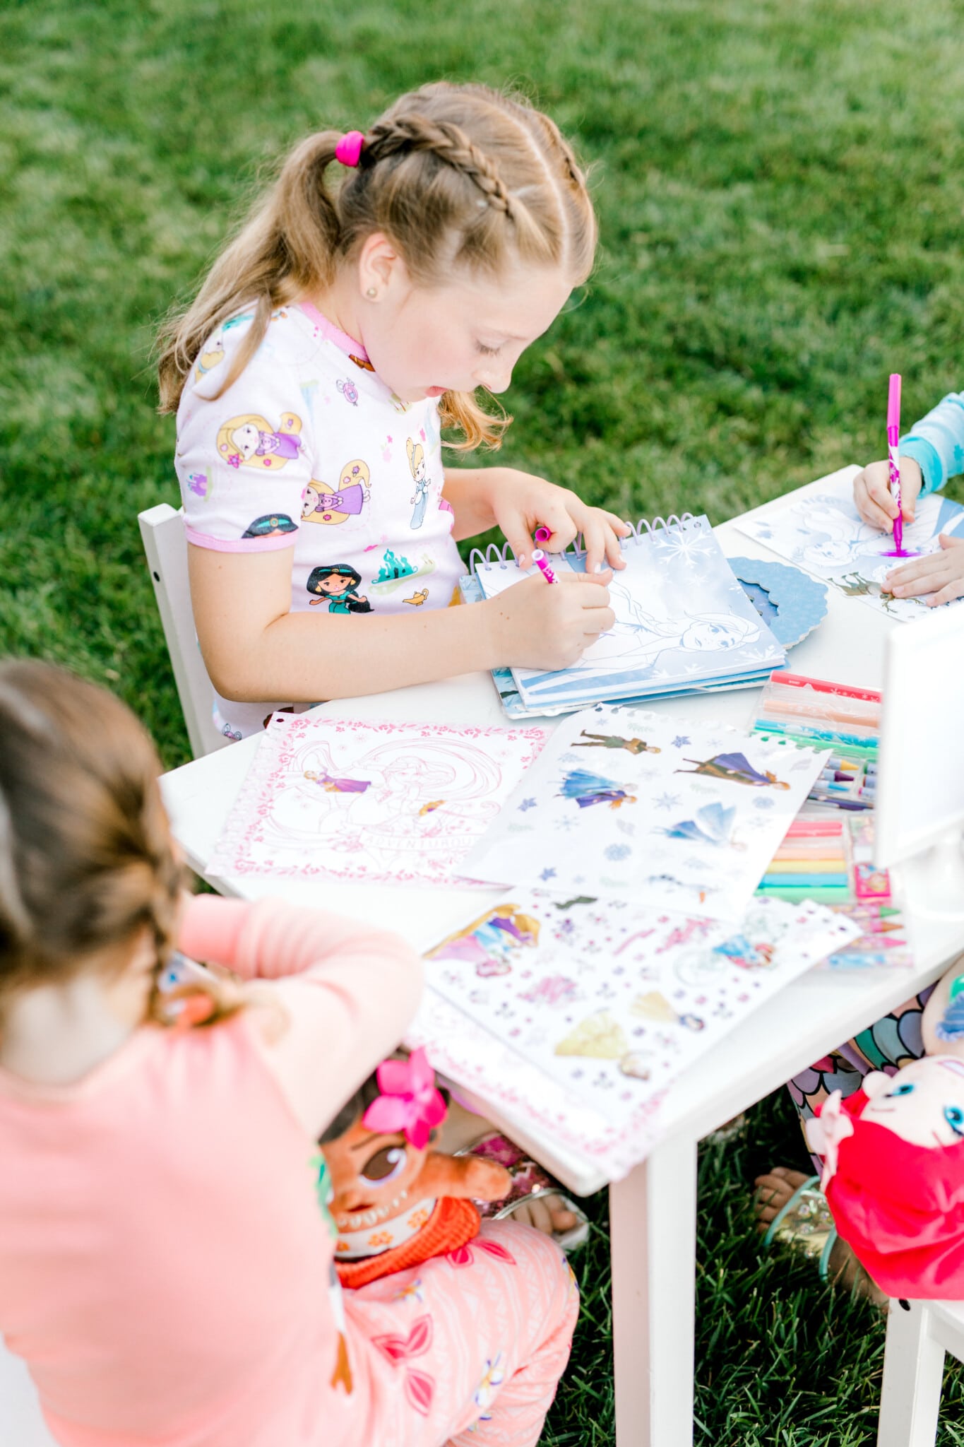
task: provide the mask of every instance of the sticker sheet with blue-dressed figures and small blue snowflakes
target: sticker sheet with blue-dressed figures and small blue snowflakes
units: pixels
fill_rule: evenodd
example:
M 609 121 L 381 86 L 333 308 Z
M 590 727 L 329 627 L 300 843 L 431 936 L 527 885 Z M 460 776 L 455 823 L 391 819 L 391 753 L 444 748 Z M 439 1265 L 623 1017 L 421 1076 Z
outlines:
M 723 725 L 584 709 L 559 724 L 465 870 L 739 920 L 822 760 Z

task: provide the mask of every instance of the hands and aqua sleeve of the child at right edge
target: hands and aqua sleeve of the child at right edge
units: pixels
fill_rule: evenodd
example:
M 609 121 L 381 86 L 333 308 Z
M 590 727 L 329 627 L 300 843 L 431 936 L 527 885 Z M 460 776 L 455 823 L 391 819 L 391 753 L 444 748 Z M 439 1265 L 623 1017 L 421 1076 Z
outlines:
M 900 512 L 913 522 L 919 496 L 938 492 L 964 472 L 964 392 L 951 392 L 900 438 Z M 898 505 L 887 463 L 873 462 L 854 478 L 854 502 L 864 522 L 893 532 Z M 885 579 L 895 598 L 924 598 L 929 608 L 964 596 L 964 538 L 941 534 L 941 548 L 892 569 Z

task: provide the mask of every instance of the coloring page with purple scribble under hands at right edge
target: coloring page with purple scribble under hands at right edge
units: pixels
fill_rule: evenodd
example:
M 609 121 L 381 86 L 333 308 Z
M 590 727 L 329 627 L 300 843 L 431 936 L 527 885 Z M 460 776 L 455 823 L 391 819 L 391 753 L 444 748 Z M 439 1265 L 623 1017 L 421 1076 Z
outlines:
M 903 622 L 922 618 L 928 612 L 925 602 L 883 592 L 887 573 L 909 559 L 893 557 L 893 537 L 872 528 L 857 512 L 853 501 L 857 470 L 844 467 L 831 473 L 805 496 L 773 508 L 762 518 L 747 518 L 734 525 L 789 563 L 822 577 L 847 598 L 858 598 Z M 903 547 L 919 556 L 937 553 L 941 532 L 961 535 L 963 524 L 964 508 L 960 504 L 937 493 L 921 498 L 915 521 L 903 528 Z

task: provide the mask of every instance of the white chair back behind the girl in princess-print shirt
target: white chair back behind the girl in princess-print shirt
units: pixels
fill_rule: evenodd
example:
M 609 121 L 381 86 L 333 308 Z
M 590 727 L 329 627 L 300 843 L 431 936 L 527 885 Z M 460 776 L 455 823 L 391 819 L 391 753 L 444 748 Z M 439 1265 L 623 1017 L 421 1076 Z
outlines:
M 194 631 L 184 514 L 166 502 L 159 502 L 156 508 L 139 512 L 137 522 L 155 585 L 181 710 L 191 739 L 191 752 L 195 758 L 201 758 L 215 748 L 224 748 L 228 739 L 218 732 L 211 718 L 214 689 Z

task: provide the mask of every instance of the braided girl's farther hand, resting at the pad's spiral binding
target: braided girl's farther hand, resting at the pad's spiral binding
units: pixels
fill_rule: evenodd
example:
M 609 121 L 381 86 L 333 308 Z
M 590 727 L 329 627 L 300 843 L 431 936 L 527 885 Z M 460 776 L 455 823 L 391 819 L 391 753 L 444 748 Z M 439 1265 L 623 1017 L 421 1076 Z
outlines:
M 632 528 L 614 512 L 604 508 L 590 508 L 568 488 L 556 488 L 545 478 L 533 478 L 515 467 L 490 467 L 486 470 L 490 483 L 490 502 L 496 522 L 506 535 L 519 567 L 532 563 L 532 535 L 536 528 L 549 528 L 551 537 L 541 544 L 546 553 L 561 553 L 582 534 L 585 541 L 585 572 L 597 567 L 626 567 L 619 540 Z

